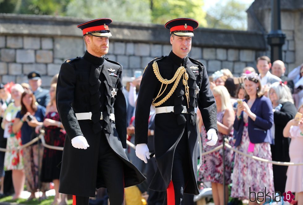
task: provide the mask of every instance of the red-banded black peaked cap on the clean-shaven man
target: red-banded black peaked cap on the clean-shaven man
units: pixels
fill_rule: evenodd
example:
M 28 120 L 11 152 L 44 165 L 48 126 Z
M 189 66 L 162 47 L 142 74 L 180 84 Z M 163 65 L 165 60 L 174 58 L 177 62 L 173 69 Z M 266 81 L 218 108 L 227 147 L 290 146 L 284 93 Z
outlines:
M 199 23 L 195 19 L 179 18 L 173 19 L 165 23 L 165 28 L 170 30 L 170 34 L 176 36 L 194 36 L 194 29 L 198 27 Z

